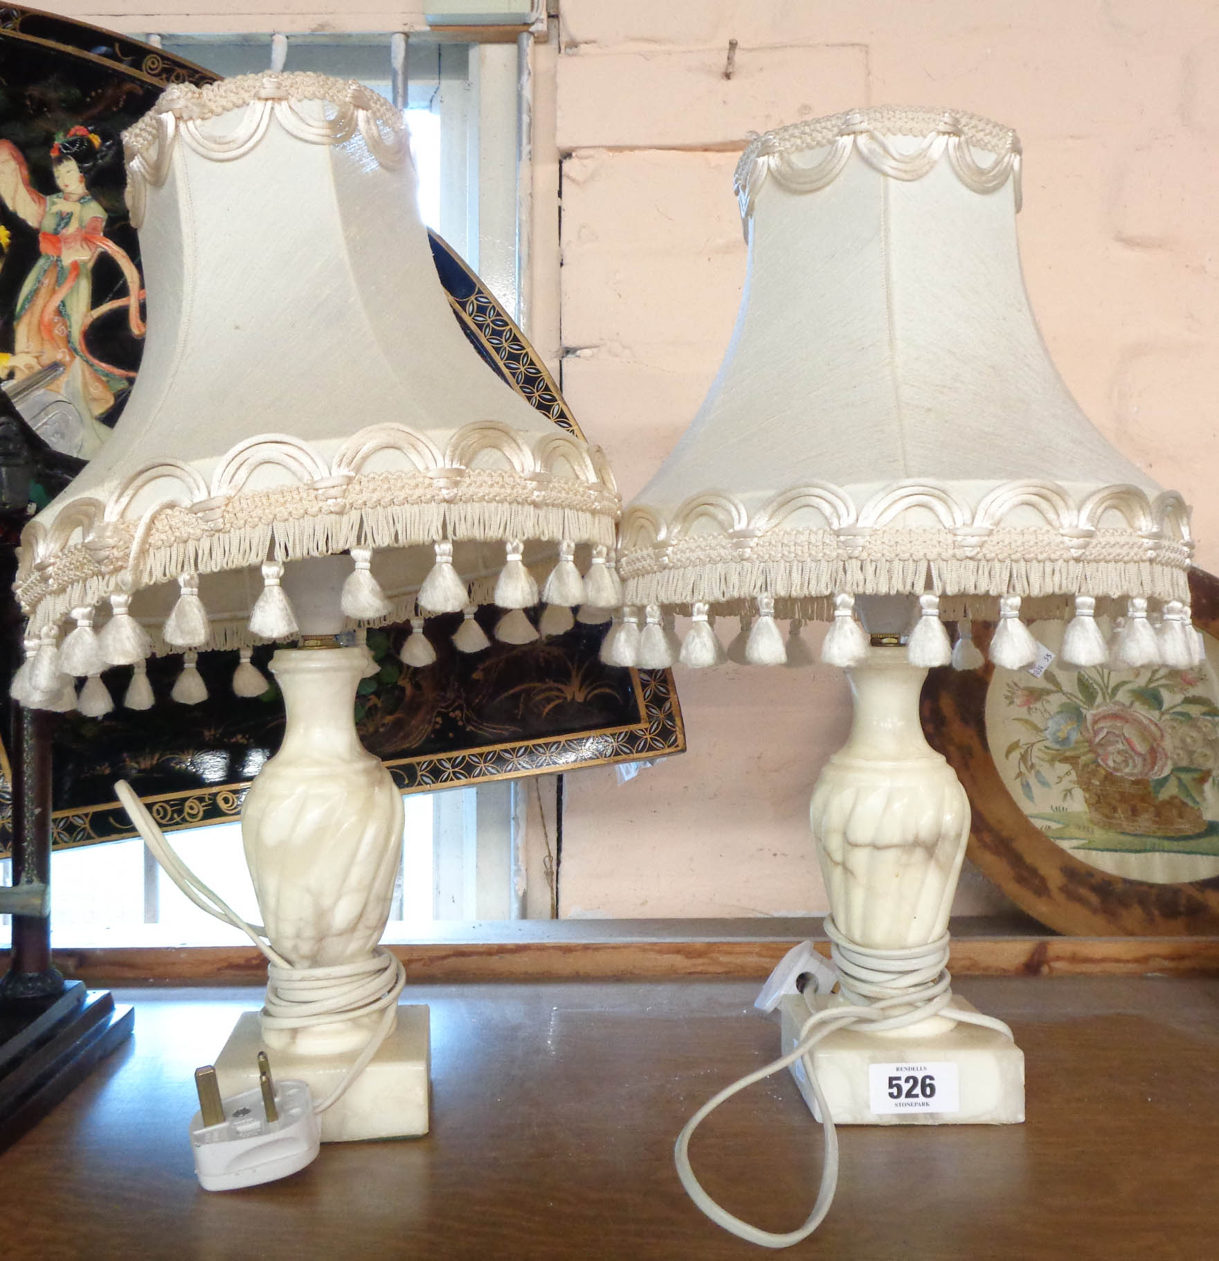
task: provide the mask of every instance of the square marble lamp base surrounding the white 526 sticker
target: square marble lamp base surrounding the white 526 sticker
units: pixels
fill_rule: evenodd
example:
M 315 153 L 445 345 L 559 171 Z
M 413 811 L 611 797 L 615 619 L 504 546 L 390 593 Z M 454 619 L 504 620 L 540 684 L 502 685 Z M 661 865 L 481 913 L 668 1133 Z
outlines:
M 824 1005 L 826 1000 L 816 1000 Z M 974 1011 L 962 997 L 956 1006 Z M 783 1053 L 794 1045 L 809 1016 L 800 994 L 787 995 L 779 1004 L 783 1016 Z M 993 1029 L 958 1023 L 943 1033 L 891 1034 L 862 1029 L 840 1029 L 819 1042 L 812 1053 L 813 1067 L 835 1125 L 1012 1125 L 1025 1119 L 1024 1052 Z M 952 1112 L 874 1112 L 869 1091 L 871 1064 L 954 1064 L 958 1108 Z M 792 1066 L 804 1102 L 821 1120 L 802 1061 Z

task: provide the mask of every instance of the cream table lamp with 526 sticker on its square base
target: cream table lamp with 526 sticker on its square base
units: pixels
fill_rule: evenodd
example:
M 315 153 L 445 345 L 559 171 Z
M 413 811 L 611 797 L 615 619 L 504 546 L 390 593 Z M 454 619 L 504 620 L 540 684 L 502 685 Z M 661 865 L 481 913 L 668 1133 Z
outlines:
M 625 608 L 606 660 L 668 665 L 676 612 L 691 619 L 682 663 L 722 660 L 711 619 L 734 615 L 749 628 L 737 652 L 782 665 L 803 647 L 799 623 L 824 620 L 822 661 L 855 696 L 812 801 L 836 992 L 782 996 L 785 1054 L 769 1069 L 790 1064 L 824 1121 L 817 1206 L 797 1231 L 759 1231 L 691 1171 L 693 1126 L 760 1073 L 678 1141 L 700 1207 L 771 1247 L 829 1207 L 833 1120 L 1024 1119 L 1010 1030 L 954 997 L 945 970 L 969 803 L 923 738 L 927 670 L 981 663 L 972 619 L 996 623 L 991 660 L 1012 670 L 1044 668 L 1025 619 L 1045 617 L 1069 619 L 1068 666 L 1199 654 L 1187 509 L 1083 415 L 1029 308 L 1020 161 L 1007 127 L 930 110 L 853 110 L 751 140 L 736 170 L 749 270 L 731 344 L 624 513 Z M 809 955 L 793 977 L 816 971 Z

